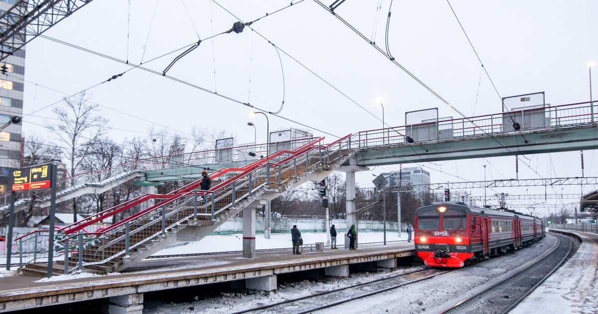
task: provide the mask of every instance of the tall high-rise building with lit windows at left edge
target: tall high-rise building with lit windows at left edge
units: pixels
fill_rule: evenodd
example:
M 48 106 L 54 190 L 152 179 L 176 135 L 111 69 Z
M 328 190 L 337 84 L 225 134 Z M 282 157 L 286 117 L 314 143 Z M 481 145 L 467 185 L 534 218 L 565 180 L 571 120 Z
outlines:
M 0 14 L 8 11 L 15 0 L 0 0 Z M 25 50 L 17 50 L 8 56 L 0 67 L 0 128 L 5 126 L 10 117 L 23 115 L 23 79 L 25 78 Z M 11 123 L 0 131 L 0 191 L 5 191 L 8 176 L 14 168 L 21 166 L 22 160 L 21 124 Z

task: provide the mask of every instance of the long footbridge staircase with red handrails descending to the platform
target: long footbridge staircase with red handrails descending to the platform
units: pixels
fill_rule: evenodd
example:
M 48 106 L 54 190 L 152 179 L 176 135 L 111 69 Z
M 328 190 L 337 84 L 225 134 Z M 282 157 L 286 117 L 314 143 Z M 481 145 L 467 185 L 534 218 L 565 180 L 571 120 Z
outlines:
M 172 193 L 144 194 L 68 225 L 57 231 L 56 243 L 66 254 L 56 258 L 54 272 L 120 272 L 174 243 L 201 240 L 242 209 L 257 208 L 260 202 L 304 182 L 325 178 L 357 151 L 350 147 L 350 135 L 328 145 L 321 144 L 323 139 L 292 151 L 277 151 L 244 167 L 216 170 L 210 177 L 221 180 L 209 191 L 199 190 L 199 179 Z M 83 231 L 150 200 L 155 204 L 108 228 Z M 46 269 L 47 263 L 28 263 L 20 271 L 43 275 Z

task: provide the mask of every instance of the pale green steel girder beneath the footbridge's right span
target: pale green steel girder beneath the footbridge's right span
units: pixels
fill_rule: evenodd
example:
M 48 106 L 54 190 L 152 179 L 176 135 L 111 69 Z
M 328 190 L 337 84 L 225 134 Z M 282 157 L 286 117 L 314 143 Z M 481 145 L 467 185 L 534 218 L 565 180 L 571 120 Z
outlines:
M 555 128 L 534 132 L 476 136 L 433 143 L 370 147 L 356 154 L 359 166 L 421 163 L 426 161 L 514 156 L 598 149 L 598 128 L 594 126 Z M 525 139 L 524 139 L 525 138 Z M 526 142 L 527 141 L 527 142 Z M 428 151 L 426 151 L 428 150 Z

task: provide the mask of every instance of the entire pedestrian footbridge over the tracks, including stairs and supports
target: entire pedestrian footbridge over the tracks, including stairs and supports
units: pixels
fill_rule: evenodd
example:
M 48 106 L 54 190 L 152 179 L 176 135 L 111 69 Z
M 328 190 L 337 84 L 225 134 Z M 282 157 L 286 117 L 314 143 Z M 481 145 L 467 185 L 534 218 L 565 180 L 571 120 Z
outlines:
M 598 117 L 594 109 L 589 103 L 547 106 L 362 131 L 329 144 L 324 144 L 324 138 L 309 138 L 270 147 L 221 148 L 136 161 L 138 175 L 133 175 L 132 165 L 127 164 L 126 177 L 148 193 L 57 230 L 56 249 L 51 251 L 62 259 L 55 269 L 60 273 L 74 269 L 118 272 L 173 243 L 200 240 L 240 212 L 243 256 L 253 257 L 255 209 L 307 181 L 320 181 L 335 170 L 346 172 L 347 224 L 353 224 L 357 171 L 383 164 L 596 149 Z M 513 128 L 515 122 L 520 124 L 518 130 Z M 216 182 L 209 191 L 199 190 L 201 179 L 167 194 L 149 190 L 166 181 L 199 178 L 204 169 L 210 169 Z M 114 182 L 108 178 L 69 187 L 70 192 L 61 194 L 59 200 L 80 195 L 85 189 L 93 193 L 94 188 Z M 135 206 L 141 206 L 135 214 L 102 230 L 86 231 L 86 227 L 119 217 Z M 47 237 L 47 230 L 33 231 L 16 240 L 37 242 L 44 234 Z M 32 260 L 22 270 L 44 272 L 45 267 L 47 263 Z

